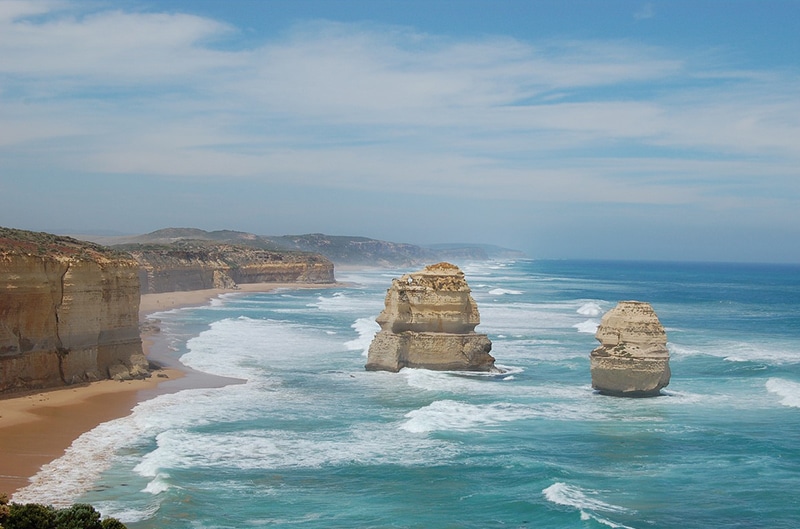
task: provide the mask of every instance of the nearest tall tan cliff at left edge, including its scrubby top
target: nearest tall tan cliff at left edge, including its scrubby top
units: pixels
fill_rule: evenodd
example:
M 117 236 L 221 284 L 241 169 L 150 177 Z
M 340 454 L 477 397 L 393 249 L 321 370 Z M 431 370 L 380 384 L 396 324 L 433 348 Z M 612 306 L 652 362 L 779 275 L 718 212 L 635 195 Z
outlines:
M 0 393 L 147 374 L 130 257 L 0 228 L 0 293 Z

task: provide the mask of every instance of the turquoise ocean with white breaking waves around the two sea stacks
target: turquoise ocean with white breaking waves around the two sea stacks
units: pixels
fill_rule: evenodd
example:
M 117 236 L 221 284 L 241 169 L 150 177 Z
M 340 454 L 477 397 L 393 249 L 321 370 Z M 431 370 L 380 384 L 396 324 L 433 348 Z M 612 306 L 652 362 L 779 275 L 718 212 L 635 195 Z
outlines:
M 800 266 L 461 264 L 502 374 L 364 370 L 393 277 L 155 315 L 174 358 L 245 383 L 139 404 L 17 501 L 151 528 L 800 527 Z M 662 396 L 591 388 L 602 314 L 649 302 Z

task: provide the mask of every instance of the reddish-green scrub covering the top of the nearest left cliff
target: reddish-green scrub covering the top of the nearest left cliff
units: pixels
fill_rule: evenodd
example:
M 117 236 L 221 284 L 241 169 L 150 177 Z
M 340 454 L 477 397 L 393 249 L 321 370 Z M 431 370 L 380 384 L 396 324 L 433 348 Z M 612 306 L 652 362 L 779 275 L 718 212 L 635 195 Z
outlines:
M 78 259 L 130 259 L 130 256 L 99 244 L 40 231 L 18 230 L 0 226 L 0 253 L 60 255 Z

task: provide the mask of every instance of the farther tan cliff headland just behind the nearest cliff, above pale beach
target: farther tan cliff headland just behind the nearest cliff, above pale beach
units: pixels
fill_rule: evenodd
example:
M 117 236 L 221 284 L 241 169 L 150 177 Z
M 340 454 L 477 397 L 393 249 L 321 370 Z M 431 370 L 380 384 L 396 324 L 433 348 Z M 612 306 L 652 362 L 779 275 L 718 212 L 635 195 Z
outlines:
M 333 283 L 333 263 L 320 255 L 273 252 L 208 241 L 120 247 L 139 263 L 143 294 L 237 283 Z

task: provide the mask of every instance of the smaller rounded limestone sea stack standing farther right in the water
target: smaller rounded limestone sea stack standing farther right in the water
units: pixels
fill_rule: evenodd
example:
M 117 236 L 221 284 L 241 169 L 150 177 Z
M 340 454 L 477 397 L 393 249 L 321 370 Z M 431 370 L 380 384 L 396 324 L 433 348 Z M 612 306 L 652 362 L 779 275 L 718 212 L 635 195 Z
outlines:
M 620 301 L 603 316 L 595 338 L 592 387 L 600 393 L 648 397 L 669 384 L 667 334 L 649 303 Z

